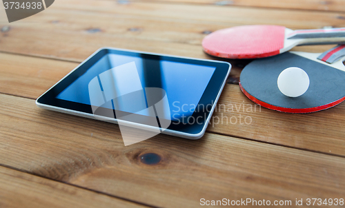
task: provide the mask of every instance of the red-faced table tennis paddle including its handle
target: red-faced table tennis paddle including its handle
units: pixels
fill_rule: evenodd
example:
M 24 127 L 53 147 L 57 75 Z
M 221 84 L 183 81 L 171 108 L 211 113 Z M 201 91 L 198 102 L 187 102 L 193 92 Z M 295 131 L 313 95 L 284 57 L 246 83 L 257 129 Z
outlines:
M 217 30 L 202 41 L 204 51 L 228 59 L 257 59 L 296 45 L 345 43 L 345 28 L 290 30 L 279 25 L 243 25 Z

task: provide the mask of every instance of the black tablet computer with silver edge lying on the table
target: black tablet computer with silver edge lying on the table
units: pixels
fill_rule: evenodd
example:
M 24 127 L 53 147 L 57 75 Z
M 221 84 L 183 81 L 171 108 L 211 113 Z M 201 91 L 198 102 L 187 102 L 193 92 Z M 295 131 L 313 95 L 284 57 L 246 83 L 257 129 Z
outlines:
M 206 131 L 230 68 L 224 61 L 101 48 L 36 103 L 48 110 L 197 139 Z

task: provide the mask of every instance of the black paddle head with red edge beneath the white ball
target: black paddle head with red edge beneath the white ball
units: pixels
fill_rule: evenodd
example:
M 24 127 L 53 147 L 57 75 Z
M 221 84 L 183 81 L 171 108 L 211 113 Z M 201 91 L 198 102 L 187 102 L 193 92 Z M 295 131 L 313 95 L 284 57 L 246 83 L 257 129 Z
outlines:
M 278 76 L 288 67 L 300 67 L 309 76 L 309 88 L 302 96 L 290 98 L 279 91 Z M 344 101 L 345 72 L 286 52 L 246 65 L 239 86 L 251 101 L 263 107 L 281 112 L 310 113 Z

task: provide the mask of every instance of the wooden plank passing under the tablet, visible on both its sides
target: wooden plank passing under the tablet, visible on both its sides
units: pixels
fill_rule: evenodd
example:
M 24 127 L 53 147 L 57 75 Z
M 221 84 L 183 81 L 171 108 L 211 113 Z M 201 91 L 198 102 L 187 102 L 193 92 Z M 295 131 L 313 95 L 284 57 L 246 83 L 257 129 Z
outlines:
M 0 92 L 38 98 L 77 65 L 0 53 Z M 345 156 L 344 114 L 345 103 L 313 114 L 274 112 L 254 105 L 238 85 L 226 85 L 208 131 Z

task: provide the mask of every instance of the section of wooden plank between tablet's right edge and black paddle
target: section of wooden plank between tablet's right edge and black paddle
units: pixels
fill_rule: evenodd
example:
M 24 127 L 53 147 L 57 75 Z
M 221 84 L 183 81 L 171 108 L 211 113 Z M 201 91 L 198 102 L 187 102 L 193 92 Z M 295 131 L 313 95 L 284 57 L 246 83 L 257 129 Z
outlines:
M 226 85 L 209 132 L 345 156 L 345 103 L 312 114 L 287 114 L 250 101 Z

